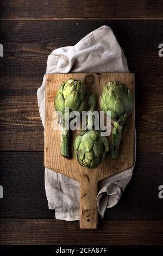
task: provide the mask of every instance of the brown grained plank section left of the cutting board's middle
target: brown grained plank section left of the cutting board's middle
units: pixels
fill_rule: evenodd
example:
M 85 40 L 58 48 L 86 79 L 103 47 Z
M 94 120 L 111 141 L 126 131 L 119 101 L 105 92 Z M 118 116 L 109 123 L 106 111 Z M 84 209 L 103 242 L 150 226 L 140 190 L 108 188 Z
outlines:
M 1 87 L 1 150 L 43 151 L 36 86 Z

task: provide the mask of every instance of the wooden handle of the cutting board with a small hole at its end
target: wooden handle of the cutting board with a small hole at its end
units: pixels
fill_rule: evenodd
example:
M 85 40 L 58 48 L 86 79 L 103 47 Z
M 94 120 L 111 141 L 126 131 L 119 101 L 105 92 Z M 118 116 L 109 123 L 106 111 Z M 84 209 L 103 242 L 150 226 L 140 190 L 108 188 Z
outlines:
M 95 229 L 98 223 L 97 182 L 89 174 L 80 181 L 80 228 Z

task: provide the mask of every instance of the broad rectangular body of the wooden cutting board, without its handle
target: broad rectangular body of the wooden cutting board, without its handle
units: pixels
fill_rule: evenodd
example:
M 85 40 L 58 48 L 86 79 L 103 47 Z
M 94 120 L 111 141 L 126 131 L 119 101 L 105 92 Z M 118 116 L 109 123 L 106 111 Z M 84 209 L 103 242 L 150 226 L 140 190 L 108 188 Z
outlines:
M 87 77 L 93 77 L 93 84 L 86 83 Z M 47 74 L 46 75 L 46 121 L 45 121 L 45 148 L 44 148 L 44 165 L 52 170 L 56 170 L 61 174 L 70 176 L 73 179 L 80 181 L 80 175 L 85 173 L 90 178 L 96 176 L 96 181 L 102 180 L 117 172 L 121 172 L 124 169 L 133 166 L 134 163 L 134 111 L 130 118 L 128 118 L 128 127 L 123 135 L 120 154 L 116 161 L 105 159 L 105 161 L 94 169 L 87 169 L 76 161 L 72 151 L 71 161 L 60 155 L 60 127 L 58 130 L 53 129 L 53 122 L 56 121 L 57 115 L 54 118 L 54 97 L 57 94 L 57 90 L 62 81 L 67 78 L 74 78 L 81 80 L 86 88 L 89 90 L 89 94 L 97 94 L 97 102 L 101 95 L 103 85 L 106 81 L 121 81 L 131 90 L 131 93 L 135 94 L 134 74 L 129 73 L 102 73 L 100 75 L 91 73 L 76 73 L 76 74 Z M 100 108 L 97 105 L 98 111 Z M 77 136 L 77 131 L 72 132 L 72 143 Z M 124 143 L 125 142 L 125 143 Z M 109 169 L 108 169 L 109 167 Z M 78 172 L 74 172 L 77 168 Z

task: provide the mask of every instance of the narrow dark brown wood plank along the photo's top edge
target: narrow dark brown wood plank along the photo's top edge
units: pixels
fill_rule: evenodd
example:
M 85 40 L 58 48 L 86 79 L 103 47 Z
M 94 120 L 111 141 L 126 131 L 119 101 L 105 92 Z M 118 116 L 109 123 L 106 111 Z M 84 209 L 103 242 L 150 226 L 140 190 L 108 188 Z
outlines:
M 162 1 L 66 1 L 39 0 L 1 1 L 1 17 L 55 18 L 55 17 L 162 17 Z

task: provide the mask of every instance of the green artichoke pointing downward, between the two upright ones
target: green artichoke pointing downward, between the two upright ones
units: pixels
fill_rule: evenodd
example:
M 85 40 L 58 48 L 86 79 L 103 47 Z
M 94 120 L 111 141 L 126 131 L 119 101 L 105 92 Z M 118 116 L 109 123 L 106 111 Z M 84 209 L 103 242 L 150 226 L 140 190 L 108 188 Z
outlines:
M 96 106 L 96 95 L 89 97 L 89 110 L 93 112 Z M 91 125 L 87 123 L 87 127 Z M 94 120 L 92 120 L 94 125 Z M 109 151 L 108 139 L 101 136 L 101 132 L 85 130 L 79 133 L 74 141 L 74 154 L 79 164 L 86 168 L 97 168 L 105 159 L 106 151 Z

